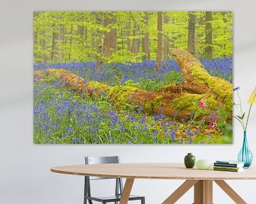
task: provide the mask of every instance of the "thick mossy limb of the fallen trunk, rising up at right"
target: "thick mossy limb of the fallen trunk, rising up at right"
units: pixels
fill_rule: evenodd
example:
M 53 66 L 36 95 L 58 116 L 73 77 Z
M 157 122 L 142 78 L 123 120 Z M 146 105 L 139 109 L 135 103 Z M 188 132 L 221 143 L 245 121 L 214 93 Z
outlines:
M 208 98 L 211 106 L 223 108 L 227 113 L 232 114 L 233 110 L 233 85 L 220 77 L 212 77 L 203 64 L 193 57 L 188 51 L 176 49 L 172 52 L 176 57 L 183 74 L 183 84 L 171 84 L 160 90 L 162 93 L 191 93 L 202 94 L 203 98 Z M 176 98 L 175 103 L 183 103 L 185 97 Z M 209 101 L 210 100 L 210 101 Z M 186 100 L 187 101 L 187 100 Z M 176 107 L 174 104 L 174 108 Z M 178 107 L 177 107 L 178 108 Z

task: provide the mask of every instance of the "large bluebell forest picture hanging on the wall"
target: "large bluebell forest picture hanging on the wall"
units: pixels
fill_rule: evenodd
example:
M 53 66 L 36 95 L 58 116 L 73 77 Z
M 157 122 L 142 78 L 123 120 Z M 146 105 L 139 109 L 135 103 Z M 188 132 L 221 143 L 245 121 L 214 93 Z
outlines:
M 233 13 L 35 11 L 34 144 L 232 144 Z

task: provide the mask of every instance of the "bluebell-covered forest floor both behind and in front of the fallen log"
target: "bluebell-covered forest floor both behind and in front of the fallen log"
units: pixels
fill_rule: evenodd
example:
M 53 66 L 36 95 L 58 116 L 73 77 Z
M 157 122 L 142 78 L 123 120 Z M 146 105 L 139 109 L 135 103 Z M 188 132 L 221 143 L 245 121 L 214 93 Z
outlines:
M 230 82 L 232 58 L 201 61 L 213 76 Z M 95 62 L 35 64 L 35 70 L 66 69 L 85 79 L 111 86 L 133 86 L 146 91 L 182 84 L 174 60 L 164 61 L 157 74 L 155 62 L 106 64 L 99 71 Z M 104 96 L 79 96 L 60 81 L 34 82 L 34 142 L 36 144 L 227 144 L 232 143 L 232 124 L 209 127 L 206 120 L 178 120 L 143 113 L 130 104 L 115 104 Z M 230 135 L 231 134 L 231 135 Z

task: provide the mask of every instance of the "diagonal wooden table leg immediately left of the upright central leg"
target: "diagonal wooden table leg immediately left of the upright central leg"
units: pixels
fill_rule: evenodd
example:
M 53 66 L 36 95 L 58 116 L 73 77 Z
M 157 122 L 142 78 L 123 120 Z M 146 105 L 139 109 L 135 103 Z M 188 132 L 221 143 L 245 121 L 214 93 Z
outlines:
M 171 194 L 162 204 L 174 204 L 181 196 L 183 196 L 198 180 L 187 180 L 179 186 L 174 193 Z

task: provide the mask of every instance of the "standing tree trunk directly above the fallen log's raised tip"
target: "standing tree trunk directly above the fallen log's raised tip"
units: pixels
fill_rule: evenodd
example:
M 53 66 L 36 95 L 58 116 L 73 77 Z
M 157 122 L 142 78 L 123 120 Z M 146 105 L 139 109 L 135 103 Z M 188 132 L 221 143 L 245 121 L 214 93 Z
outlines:
M 195 55 L 195 28 L 195 11 L 188 11 L 188 52 L 190 52 L 192 55 Z

